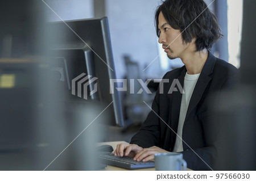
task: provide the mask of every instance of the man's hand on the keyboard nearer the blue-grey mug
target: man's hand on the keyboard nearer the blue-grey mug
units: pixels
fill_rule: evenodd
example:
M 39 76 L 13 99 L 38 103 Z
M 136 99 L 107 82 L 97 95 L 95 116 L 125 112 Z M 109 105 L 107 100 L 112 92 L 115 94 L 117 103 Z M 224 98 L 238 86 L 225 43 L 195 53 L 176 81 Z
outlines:
M 164 149 L 161 149 L 157 146 L 152 146 L 150 148 L 144 148 L 135 157 L 133 158 L 134 161 L 143 161 L 147 162 L 150 161 L 151 159 L 154 159 L 154 154 L 156 153 L 169 153 L 169 151 L 166 151 Z

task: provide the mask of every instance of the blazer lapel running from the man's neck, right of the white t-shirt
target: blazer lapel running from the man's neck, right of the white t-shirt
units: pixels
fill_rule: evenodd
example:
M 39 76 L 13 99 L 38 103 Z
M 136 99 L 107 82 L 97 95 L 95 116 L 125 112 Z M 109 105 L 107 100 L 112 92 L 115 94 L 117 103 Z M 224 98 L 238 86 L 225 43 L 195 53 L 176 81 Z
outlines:
M 199 76 L 199 79 L 197 80 L 195 89 L 193 90 L 193 94 L 191 96 L 191 99 L 188 105 L 188 110 L 187 110 L 187 115 L 185 120 L 187 119 L 189 113 L 191 113 L 193 108 L 195 108 L 196 105 L 199 103 L 200 99 L 204 94 L 205 89 L 207 88 L 208 83 L 212 79 L 211 77 L 209 77 L 209 75 L 212 74 L 213 72 L 215 62 L 216 62 L 216 57 L 214 57 L 210 52 L 208 52 L 207 61 L 205 62 L 204 68 L 201 71 L 201 74 Z

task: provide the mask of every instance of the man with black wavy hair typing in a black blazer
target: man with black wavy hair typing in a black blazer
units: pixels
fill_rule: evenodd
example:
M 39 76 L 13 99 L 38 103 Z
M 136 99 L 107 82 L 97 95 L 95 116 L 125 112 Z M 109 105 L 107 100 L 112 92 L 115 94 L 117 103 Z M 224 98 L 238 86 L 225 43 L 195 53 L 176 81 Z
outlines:
M 220 97 L 232 85 L 237 69 L 209 52 L 222 35 L 203 0 L 166 0 L 155 21 L 164 52 L 170 59 L 181 58 L 184 66 L 164 75 L 169 82 L 160 83 L 141 129 L 130 145 L 117 145 L 114 154 L 148 161 L 155 153 L 181 152 L 189 169 L 212 170 L 217 134 L 208 105 L 213 94 Z M 170 91 L 174 81 L 185 94 L 179 88 Z

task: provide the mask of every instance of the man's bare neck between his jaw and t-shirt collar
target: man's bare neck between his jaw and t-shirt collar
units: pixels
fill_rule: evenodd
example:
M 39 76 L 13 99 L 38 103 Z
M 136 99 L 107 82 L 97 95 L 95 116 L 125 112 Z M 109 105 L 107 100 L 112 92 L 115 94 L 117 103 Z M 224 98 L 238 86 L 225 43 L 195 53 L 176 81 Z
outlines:
M 208 50 L 204 49 L 199 52 L 190 51 L 186 53 L 181 60 L 188 71 L 188 74 L 201 73 L 205 62 L 208 58 Z

